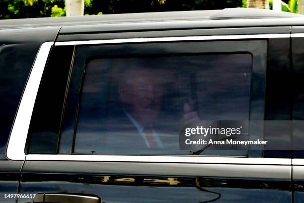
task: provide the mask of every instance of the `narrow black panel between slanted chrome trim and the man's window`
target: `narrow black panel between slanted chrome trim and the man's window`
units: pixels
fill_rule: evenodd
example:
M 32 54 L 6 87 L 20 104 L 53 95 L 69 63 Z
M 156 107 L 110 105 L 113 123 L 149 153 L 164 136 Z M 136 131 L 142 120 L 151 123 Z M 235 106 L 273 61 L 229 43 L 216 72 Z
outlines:
M 37 94 L 28 131 L 27 151 L 57 153 L 74 46 L 53 47 Z

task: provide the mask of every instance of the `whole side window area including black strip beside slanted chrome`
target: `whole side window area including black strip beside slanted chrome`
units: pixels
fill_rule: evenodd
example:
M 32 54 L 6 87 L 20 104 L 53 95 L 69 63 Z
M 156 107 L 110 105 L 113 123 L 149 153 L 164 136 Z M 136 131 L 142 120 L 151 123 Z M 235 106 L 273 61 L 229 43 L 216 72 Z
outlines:
M 250 155 L 248 145 L 184 149 L 180 132 L 192 121 L 245 121 L 241 139 L 263 139 L 263 126 L 251 132 L 248 121 L 264 119 L 266 45 L 261 40 L 55 46 L 27 152 L 261 157 L 262 149 Z M 52 86 L 59 72 L 62 78 Z

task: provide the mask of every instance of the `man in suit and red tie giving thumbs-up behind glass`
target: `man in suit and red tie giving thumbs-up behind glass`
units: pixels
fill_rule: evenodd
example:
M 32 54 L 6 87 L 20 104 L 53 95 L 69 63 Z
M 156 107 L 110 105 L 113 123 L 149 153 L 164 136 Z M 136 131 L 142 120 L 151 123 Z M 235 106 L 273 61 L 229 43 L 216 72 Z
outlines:
M 116 147 L 121 145 L 155 149 L 170 146 L 175 142 L 176 148 L 180 119 L 172 120 L 177 126 L 174 135 L 164 132 L 167 129 L 157 128 L 159 122 L 163 122 L 160 114 L 163 107 L 166 107 L 162 106 L 163 101 L 167 99 L 164 89 L 167 82 L 172 80 L 172 72 L 152 68 L 151 64 L 144 66 L 145 63 L 144 60 L 129 64 L 124 62 L 116 72 L 119 76 L 116 80 L 121 105 L 111 107 L 107 123 L 107 143 L 115 144 Z M 189 103 L 183 103 L 182 108 L 182 123 L 199 119 L 198 113 L 191 110 Z

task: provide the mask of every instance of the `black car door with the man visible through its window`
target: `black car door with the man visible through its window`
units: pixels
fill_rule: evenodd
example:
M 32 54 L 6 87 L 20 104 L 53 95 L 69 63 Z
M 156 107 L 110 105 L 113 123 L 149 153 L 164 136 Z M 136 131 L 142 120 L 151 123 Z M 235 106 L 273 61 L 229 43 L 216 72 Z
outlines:
M 26 159 L 19 191 L 38 194 L 36 202 L 292 202 L 288 156 L 265 158 L 261 146 L 180 149 L 180 122 L 187 117 L 261 121 L 266 113 L 267 48 L 274 36 L 201 32 L 59 36 L 42 80 L 35 71 L 29 78 L 41 80 L 31 86 L 39 88 L 37 98 L 28 97 L 33 111 L 19 107 L 16 119 L 31 119 L 14 125 L 28 132 L 25 153 L 16 145 L 20 134 L 12 131 L 9 142 L 7 156 Z M 37 59 L 51 47 L 43 44 Z M 36 71 L 43 70 L 42 64 Z M 140 130 L 145 125 L 152 126 L 153 141 Z M 263 126 L 247 126 L 244 137 L 263 139 Z

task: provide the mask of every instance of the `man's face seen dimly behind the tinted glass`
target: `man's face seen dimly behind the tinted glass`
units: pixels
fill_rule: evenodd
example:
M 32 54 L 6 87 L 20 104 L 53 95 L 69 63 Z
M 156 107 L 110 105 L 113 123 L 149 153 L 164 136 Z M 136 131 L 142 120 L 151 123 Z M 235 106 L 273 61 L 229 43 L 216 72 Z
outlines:
M 160 111 L 163 84 L 159 77 L 152 71 L 139 70 L 129 74 L 125 87 L 119 87 L 129 113 L 142 124 L 152 123 Z

